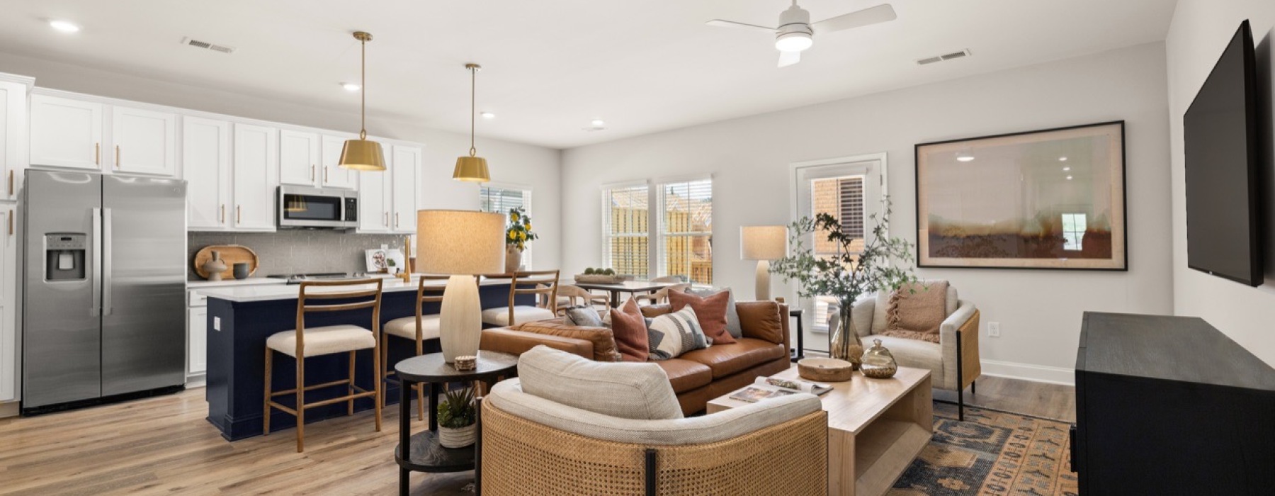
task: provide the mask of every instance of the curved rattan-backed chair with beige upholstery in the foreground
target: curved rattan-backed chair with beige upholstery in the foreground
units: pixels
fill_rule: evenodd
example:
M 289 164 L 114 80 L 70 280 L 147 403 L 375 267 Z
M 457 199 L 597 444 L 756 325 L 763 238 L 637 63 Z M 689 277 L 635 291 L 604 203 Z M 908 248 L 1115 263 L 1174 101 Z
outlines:
M 796 394 L 683 418 L 650 363 L 537 347 L 523 354 L 519 379 L 482 399 L 479 430 L 478 483 L 487 496 L 827 493 L 827 413 L 819 398 Z

